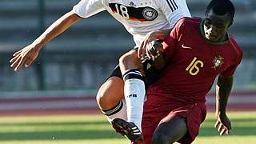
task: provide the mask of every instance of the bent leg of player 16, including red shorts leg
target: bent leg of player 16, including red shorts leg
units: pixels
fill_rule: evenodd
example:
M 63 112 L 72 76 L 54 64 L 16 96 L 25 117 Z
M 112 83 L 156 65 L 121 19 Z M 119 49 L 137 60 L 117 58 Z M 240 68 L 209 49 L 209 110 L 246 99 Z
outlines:
M 154 131 L 152 144 L 191 143 L 198 135 L 200 125 L 205 118 L 204 102 L 176 107 L 159 122 L 158 128 Z

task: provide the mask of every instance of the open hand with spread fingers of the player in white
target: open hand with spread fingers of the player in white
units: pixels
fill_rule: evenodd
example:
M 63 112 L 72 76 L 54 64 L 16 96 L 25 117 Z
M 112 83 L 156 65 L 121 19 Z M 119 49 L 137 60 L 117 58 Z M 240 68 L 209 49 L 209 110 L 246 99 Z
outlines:
M 15 71 L 21 69 L 23 65 L 28 67 L 38 57 L 39 48 L 30 44 L 24 47 L 22 50 L 18 50 L 13 54 L 13 58 L 10 59 L 10 67 L 13 67 Z

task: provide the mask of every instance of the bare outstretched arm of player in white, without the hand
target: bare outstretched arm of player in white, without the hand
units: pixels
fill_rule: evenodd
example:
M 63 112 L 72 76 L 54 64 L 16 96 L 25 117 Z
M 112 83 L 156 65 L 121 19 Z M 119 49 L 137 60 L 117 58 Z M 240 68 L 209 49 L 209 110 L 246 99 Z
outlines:
M 72 11 L 66 13 L 61 18 L 58 18 L 58 20 L 55 21 L 51 26 L 49 26 L 46 31 L 33 42 L 33 44 L 41 49 L 42 46 L 46 45 L 47 42 L 50 42 L 51 39 L 57 37 L 59 34 L 62 34 L 62 32 L 67 30 L 80 19 L 82 18 L 78 17 L 78 15 L 74 14 Z

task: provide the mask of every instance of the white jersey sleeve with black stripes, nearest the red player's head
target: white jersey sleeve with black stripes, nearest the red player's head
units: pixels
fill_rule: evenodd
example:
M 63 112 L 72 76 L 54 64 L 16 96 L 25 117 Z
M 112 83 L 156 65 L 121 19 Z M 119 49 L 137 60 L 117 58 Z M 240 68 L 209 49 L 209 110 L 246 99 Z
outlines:
M 158 0 L 158 6 L 173 28 L 180 18 L 191 17 L 186 0 Z

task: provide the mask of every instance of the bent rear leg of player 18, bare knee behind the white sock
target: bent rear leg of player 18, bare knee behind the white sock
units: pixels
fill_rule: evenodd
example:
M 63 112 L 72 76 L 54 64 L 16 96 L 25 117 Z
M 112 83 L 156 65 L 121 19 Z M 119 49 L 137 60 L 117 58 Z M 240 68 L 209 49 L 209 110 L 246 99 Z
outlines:
M 116 66 L 110 78 L 107 78 L 98 90 L 96 97 L 99 108 L 110 122 L 114 118 L 127 119 L 123 90 L 122 74 L 119 66 Z

